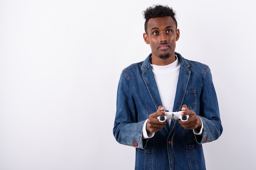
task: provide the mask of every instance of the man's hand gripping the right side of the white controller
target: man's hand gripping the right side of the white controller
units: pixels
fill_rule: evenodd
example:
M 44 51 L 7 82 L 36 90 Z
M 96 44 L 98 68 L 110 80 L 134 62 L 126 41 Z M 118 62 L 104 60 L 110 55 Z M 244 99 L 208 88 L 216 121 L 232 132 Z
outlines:
M 202 127 L 202 122 L 200 118 L 195 114 L 194 111 L 189 110 L 186 105 L 182 105 L 182 112 L 180 115 L 189 115 L 189 119 L 186 122 L 182 122 L 181 120 L 178 120 L 179 124 L 184 129 L 196 129 L 196 131 L 200 131 Z

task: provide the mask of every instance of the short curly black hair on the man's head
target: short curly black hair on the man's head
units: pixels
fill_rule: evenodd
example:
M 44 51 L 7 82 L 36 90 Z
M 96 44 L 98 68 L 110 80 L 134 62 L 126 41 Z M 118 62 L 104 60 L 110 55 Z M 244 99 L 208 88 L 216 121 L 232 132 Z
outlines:
M 170 16 L 173 18 L 173 21 L 176 23 L 176 28 L 177 28 L 177 21 L 175 18 L 175 11 L 171 7 L 168 7 L 168 5 L 163 6 L 163 5 L 154 5 L 153 7 L 148 7 L 145 11 L 142 12 L 145 18 L 145 32 L 147 33 L 147 24 L 148 20 L 150 18 L 156 18 L 156 17 L 165 17 L 165 16 Z

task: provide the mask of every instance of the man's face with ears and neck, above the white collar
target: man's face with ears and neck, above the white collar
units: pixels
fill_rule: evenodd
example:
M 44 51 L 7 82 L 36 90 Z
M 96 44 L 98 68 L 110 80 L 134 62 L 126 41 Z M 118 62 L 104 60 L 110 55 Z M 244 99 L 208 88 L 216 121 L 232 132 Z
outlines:
M 147 32 L 144 33 L 144 41 L 150 44 L 152 59 L 171 61 L 169 59 L 171 57 L 175 60 L 175 46 L 180 37 L 180 31 L 176 30 L 176 23 L 172 17 L 150 18 Z

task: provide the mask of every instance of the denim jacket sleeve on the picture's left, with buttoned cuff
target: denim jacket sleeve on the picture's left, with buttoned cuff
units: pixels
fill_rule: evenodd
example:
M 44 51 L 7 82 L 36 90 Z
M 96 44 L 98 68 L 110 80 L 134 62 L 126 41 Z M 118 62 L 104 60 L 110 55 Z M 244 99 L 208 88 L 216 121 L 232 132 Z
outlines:
M 138 122 L 129 76 L 123 70 L 117 88 L 117 111 L 113 134 L 120 144 L 144 148 L 148 139 L 142 139 L 144 121 Z

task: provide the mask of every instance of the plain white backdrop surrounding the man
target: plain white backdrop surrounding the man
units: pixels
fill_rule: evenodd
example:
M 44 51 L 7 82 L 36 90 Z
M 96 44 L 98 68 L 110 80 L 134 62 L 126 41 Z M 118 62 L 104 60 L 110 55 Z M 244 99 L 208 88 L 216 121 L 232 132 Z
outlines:
M 177 13 L 176 51 L 209 65 L 223 133 L 207 170 L 255 169 L 252 0 L 0 0 L 0 170 L 132 170 L 115 141 L 121 70 L 150 53 L 141 12 Z

